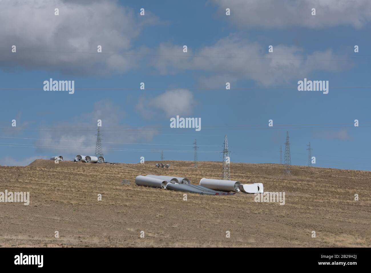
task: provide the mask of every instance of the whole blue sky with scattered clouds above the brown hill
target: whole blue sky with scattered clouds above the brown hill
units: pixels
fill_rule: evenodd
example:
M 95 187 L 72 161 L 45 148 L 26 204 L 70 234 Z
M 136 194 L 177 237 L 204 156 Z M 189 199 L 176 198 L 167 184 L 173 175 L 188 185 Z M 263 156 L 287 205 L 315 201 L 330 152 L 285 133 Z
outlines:
M 311 142 L 317 167 L 371 170 L 371 88 L 359 88 L 371 86 L 371 5 L 338 2 L 1 1 L 0 164 L 93 155 L 101 119 L 110 162 L 193 160 L 194 139 L 199 160 L 219 161 L 227 135 L 232 162 L 279 163 L 289 131 L 294 165 Z M 44 91 L 49 78 L 75 93 Z M 329 93 L 298 91 L 304 78 Z M 176 115 L 201 131 L 170 128 Z

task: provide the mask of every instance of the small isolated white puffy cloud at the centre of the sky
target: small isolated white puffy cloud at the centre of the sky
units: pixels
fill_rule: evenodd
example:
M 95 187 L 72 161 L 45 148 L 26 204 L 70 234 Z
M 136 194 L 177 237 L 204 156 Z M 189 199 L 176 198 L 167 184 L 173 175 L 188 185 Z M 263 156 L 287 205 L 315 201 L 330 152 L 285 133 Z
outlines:
M 196 101 L 191 91 L 177 89 L 166 91 L 154 98 L 142 96 L 139 98 L 136 109 L 144 118 L 149 119 L 158 112 L 159 115 L 166 115 L 166 117 L 189 115 L 194 105 L 196 105 Z

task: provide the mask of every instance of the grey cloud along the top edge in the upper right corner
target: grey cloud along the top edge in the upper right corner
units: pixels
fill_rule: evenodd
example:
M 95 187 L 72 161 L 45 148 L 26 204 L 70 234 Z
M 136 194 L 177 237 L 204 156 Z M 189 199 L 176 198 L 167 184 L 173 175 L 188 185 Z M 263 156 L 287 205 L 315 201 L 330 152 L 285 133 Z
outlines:
M 369 0 L 213 0 L 219 13 L 243 28 L 352 26 L 371 21 Z M 230 16 L 226 16 L 226 8 Z M 311 14 L 316 9 L 316 15 Z

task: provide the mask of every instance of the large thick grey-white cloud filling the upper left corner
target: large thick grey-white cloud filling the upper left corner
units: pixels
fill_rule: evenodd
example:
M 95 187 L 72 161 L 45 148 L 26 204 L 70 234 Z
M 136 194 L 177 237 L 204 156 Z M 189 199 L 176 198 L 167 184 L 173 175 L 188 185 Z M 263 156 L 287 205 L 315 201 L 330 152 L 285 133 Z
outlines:
M 157 22 L 150 11 L 139 16 L 115 0 L 2 0 L 0 10 L 0 37 L 9 45 L 0 47 L 0 67 L 7 70 L 22 66 L 73 75 L 124 73 L 138 65 L 139 56 L 105 53 L 130 53 L 132 40 Z

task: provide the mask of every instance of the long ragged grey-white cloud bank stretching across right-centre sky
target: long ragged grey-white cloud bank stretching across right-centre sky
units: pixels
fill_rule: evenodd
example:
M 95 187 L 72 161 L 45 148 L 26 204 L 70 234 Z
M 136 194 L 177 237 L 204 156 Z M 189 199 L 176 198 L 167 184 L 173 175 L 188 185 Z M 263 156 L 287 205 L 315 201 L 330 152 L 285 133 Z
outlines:
M 171 55 L 168 52 L 177 52 L 179 48 L 181 46 L 162 44 L 158 47 L 158 55 Z M 266 49 L 264 53 L 263 48 Z M 273 45 L 274 53 L 267 51 L 268 47 L 250 42 L 237 34 L 230 34 L 214 45 L 203 47 L 194 53 L 188 50 L 188 57 L 181 57 L 180 53 L 173 54 L 175 57 L 154 57 L 151 65 L 162 74 L 182 70 L 209 73 L 211 76 L 204 74 L 199 81 L 206 86 L 209 78 L 210 88 L 215 88 L 221 79 L 225 85 L 237 78 L 254 80 L 263 86 L 289 84 L 298 79 L 309 78 L 314 71 L 334 72 L 351 67 L 349 62 L 331 61 L 336 59 L 331 49 L 304 55 L 300 47 Z

